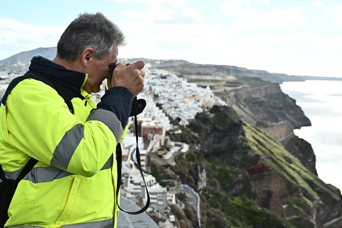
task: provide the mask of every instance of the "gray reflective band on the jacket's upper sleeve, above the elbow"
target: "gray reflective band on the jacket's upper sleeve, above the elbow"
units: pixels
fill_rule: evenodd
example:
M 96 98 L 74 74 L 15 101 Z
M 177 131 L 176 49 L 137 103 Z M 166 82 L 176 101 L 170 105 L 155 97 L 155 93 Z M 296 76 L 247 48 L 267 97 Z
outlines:
M 62 140 L 56 146 L 53 152 L 50 165 L 66 170 L 71 157 L 83 138 L 84 126 L 81 123 L 76 124 L 69 131 L 65 132 Z

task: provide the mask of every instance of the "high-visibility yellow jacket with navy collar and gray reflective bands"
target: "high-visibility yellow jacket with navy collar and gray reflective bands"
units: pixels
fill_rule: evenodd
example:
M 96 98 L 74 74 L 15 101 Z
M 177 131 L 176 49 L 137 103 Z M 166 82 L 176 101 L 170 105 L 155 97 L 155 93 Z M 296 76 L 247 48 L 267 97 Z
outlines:
M 0 164 L 15 179 L 30 157 L 37 165 L 19 182 L 5 227 L 113 228 L 117 223 L 115 148 L 127 131 L 133 96 L 111 88 L 96 104 L 82 89 L 88 75 L 40 56 L 30 70 L 52 78 L 19 82 L 0 106 Z M 5 98 L 5 97 L 4 97 Z

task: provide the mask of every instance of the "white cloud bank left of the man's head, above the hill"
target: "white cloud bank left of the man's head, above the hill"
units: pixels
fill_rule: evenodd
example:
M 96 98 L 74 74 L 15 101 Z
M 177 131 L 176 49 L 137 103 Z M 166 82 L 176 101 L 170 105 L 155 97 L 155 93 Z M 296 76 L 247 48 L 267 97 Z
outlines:
M 66 26 L 35 26 L 13 18 L 0 18 L 0 56 L 39 47 L 56 46 Z

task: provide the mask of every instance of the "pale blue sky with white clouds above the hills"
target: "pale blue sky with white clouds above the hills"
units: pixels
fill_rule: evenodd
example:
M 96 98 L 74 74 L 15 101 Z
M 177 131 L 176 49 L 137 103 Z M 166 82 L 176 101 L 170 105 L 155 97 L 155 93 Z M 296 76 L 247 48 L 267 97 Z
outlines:
M 0 60 L 56 46 L 84 12 L 121 28 L 119 58 L 342 77 L 342 0 L 0 0 Z

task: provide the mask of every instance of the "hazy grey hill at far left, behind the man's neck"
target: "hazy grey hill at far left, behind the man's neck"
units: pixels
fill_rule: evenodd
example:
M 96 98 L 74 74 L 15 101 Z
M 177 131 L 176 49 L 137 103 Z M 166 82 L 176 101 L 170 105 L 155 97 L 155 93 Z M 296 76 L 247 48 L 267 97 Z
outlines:
M 11 57 L 5 58 L 0 61 L 0 66 L 11 66 L 14 64 L 29 64 L 33 56 L 43 56 L 50 60 L 56 57 L 57 47 L 52 48 L 37 48 L 35 50 L 20 52 Z

